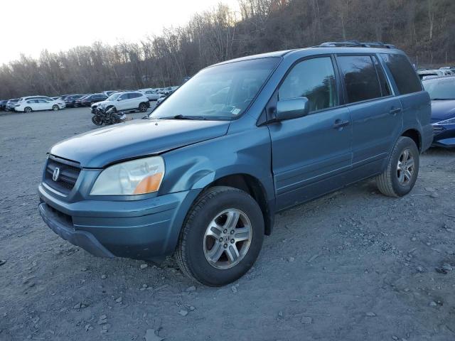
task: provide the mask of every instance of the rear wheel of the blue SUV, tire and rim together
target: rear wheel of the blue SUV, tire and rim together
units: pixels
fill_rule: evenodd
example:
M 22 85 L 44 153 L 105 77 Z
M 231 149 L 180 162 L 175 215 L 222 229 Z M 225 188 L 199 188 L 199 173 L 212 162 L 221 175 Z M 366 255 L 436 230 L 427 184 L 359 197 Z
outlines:
M 392 149 L 385 171 L 376 176 L 383 195 L 402 197 L 410 193 L 419 174 L 419 149 L 414 140 L 401 136 Z

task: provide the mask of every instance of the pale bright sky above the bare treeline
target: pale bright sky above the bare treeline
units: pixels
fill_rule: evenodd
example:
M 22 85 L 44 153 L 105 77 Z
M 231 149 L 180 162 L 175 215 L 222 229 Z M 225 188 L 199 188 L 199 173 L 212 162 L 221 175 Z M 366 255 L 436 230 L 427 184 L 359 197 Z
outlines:
M 137 42 L 219 2 L 238 8 L 237 0 L 2 0 L 0 64 L 97 40 Z

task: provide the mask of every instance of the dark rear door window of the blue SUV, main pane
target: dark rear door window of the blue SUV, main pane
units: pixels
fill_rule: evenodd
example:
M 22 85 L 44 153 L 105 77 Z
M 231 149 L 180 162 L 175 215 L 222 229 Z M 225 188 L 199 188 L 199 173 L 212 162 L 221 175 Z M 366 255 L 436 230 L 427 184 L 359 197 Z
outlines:
M 378 75 L 369 55 L 338 56 L 337 61 L 349 103 L 381 97 Z

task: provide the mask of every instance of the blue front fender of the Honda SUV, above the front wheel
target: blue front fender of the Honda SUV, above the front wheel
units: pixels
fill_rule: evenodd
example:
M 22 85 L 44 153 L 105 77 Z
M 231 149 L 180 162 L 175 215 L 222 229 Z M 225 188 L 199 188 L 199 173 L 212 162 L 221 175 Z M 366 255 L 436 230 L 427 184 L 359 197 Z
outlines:
M 202 189 L 227 175 L 247 174 L 274 202 L 271 144 L 267 126 L 254 126 L 163 155 L 166 175 L 160 194 Z

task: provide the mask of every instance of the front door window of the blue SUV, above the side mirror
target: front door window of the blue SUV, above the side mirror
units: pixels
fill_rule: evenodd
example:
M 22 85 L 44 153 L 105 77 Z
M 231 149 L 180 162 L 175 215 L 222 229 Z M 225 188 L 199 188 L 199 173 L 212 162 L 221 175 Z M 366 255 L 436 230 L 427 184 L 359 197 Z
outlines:
M 279 88 L 278 97 L 306 97 L 310 112 L 336 107 L 338 95 L 331 58 L 314 58 L 295 65 Z

